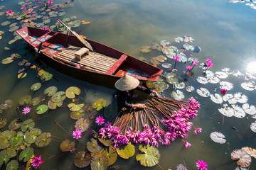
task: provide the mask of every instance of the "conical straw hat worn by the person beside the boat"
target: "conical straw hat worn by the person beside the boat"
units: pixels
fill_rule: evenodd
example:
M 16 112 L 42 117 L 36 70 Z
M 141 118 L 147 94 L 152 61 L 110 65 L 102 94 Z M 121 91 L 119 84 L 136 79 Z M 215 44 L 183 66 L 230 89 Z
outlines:
M 129 90 L 135 89 L 135 88 L 137 88 L 137 86 L 139 86 L 139 80 L 134 77 L 129 76 L 128 74 L 124 74 L 124 77 L 117 80 L 117 82 L 114 84 L 114 86 L 119 91 L 129 91 Z

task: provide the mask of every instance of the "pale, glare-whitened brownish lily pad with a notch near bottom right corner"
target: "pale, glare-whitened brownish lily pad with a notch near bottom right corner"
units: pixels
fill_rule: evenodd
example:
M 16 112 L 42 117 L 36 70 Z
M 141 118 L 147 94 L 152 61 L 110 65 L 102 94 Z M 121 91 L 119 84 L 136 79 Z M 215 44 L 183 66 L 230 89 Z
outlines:
M 235 149 L 231 153 L 231 159 L 238 160 L 237 164 L 242 167 L 247 167 L 252 162 L 252 158 L 250 157 L 247 152 L 243 151 L 242 149 Z

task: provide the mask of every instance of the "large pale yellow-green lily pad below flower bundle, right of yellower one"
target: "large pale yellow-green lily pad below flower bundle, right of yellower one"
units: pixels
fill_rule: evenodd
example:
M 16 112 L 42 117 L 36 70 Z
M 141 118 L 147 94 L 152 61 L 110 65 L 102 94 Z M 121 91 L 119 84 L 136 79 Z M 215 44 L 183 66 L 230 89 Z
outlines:
M 156 147 L 150 145 L 139 145 L 139 150 L 144 152 L 144 154 L 137 154 L 136 159 L 142 166 L 155 166 L 159 163 L 160 154 Z

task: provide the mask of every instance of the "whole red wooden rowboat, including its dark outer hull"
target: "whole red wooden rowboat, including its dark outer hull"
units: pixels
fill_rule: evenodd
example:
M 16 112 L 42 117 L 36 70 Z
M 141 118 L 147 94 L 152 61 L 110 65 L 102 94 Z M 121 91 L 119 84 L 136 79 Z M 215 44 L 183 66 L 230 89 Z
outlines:
M 32 27 L 16 33 L 41 54 L 40 60 L 78 79 L 100 79 L 102 83 L 129 74 L 140 81 L 156 81 L 163 72 L 112 47 L 85 39 L 93 48 L 88 50 L 75 35 Z

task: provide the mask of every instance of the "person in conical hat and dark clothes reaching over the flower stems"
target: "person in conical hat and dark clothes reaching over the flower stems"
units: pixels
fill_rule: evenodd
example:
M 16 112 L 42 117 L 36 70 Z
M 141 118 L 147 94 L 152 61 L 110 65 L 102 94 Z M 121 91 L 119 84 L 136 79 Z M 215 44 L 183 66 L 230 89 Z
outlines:
M 139 80 L 125 74 L 124 77 L 117 80 L 114 84 L 117 89 L 117 103 L 119 108 L 127 108 L 128 110 L 131 108 L 146 108 L 145 104 L 142 103 L 132 103 L 132 96 L 134 94 L 134 90 L 143 91 L 146 94 L 154 94 L 159 97 L 156 91 L 148 89 L 144 86 L 139 86 Z

